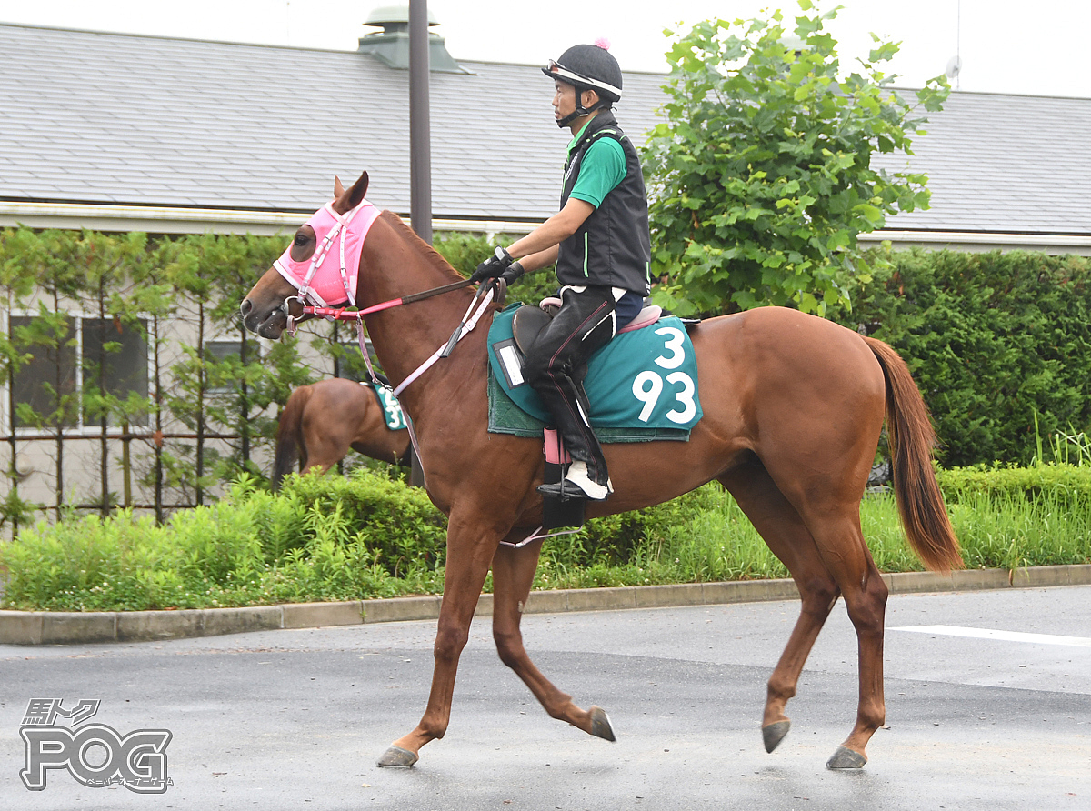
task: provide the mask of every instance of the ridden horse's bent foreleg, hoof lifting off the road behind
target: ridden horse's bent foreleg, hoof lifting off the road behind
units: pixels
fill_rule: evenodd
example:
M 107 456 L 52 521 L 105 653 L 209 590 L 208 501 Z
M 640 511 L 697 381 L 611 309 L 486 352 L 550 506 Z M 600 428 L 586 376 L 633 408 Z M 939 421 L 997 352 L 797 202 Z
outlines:
M 580 709 L 573 704 L 571 695 L 558 690 L 535 667 L 523 646 L 519 622 L 533 584 L 541 546 L 541 540 L 518 549 L 501 545 L 493 556 L 492 635 L 496 641 L 496 652 L 501 661 L 523 679 L 551 717 L 566 720 L 585 732 L 612 741 L 614 732 L 606 712 L 596 706 Z

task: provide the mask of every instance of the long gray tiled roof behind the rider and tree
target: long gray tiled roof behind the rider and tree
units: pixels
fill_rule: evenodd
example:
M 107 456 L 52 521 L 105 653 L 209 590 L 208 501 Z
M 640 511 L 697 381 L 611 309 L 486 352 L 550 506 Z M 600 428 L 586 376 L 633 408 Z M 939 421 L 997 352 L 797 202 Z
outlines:
M 409 210 L 408 73 L 355 52 L 0 25 L 0 198 L 309 212 L 333 176 Z M 567 133 L 536 67 L 435 73 L 437 217 L 540 219 L 556 208 Z M 625 74 L 637 144 L 662 75 Z M 1091 99 L 955 93 L 915 155 L 931 211 L 892 228 L 1091 232 Z

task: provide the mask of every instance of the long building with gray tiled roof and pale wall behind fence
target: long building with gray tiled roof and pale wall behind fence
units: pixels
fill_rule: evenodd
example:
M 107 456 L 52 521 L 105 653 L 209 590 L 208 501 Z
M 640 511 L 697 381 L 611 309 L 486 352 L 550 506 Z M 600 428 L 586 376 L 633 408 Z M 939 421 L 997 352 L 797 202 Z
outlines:
M 349 182 L 363 169 L 371 201 L 407 215 L 409 74 L 391 65 L 376 36 L 384 35 L 347 52 L 0 24 L 0 227 L 290 234 L 329 199 L 335 174 Z M 440 67 L 430 82 L 433 227 L 529 230 L 556 210 L 568 141 L 553 122 L 550 81 L 537 65 Z M 663 83 L 661 74 L 624 76 L 618 118 L 637 145 L 657 122 Z M 892 217 L 863 239 L 1091 253 L 1083 148 L 1091 99 L 952 93 L 931 119 L 915 155 L 876 159 L 926 174 L 933 207 Z M 32 305 L 9 305 L 3 329 L 29 324 Z M 72 334 L 82 336 L 63 349 L 77 375 L 79 358 L 86 362 L 105 341 L 94 330 L 109 320 L 62 305 Z M 203 318 L 179 312 L 165 326 L 163 369 L 201 339 L 216 357 L 242 353 L 236 332 L 195 326 Z M 148 345 L 132 332 L 116 362 L 130 375 L 125 391 L 146 397 L 159 385 L 159 363 L 153 369 Z M 110 339 L 119 341 L 112 332 Z M 77 424 L 64 427 L 62 467 L 53 432 L 17 425 L 10 406 L 41 389 L 36 369 L 0 386 L 0 427 L 9 430 L 0 463 L 17 474 L 21 498 L 56 503 L 58 513 L 70 491 L 85 493 L 71 503 L 105 498 L 96 494 L 107 490 L 105 474 L 101 482 L 94 475 L 109 466 L 129 503 L 129 470 L 119 463 L 129 445 L 119 427 L 105 431 L 107 451 L 99 439 L 87 441 L 101 436 L 99 426 L 76 414 Z M 166 434 L 149 433 L 158 425 L 151 422 L 125 430 L 155 443 L 166 437 L 184 455 L 189 429 L 163 417 Z M 216 441 L 230 452 L 225 438 Z M 0 498 L 13 481 L 0 485 Z M 146 486 L 134 493 L 137 505 L 160 503 Z

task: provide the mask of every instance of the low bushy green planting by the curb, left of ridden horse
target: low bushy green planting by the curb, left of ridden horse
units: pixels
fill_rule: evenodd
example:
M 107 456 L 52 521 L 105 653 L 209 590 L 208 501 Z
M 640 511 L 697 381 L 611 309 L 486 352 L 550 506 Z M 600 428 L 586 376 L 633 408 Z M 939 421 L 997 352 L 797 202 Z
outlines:
M 446 521 L 423 490 L 365 468 L 243 477 L 163 526 L 118 511 L 38 524 L 0 544 L 9 607 L 207 608 L 439 592 Z

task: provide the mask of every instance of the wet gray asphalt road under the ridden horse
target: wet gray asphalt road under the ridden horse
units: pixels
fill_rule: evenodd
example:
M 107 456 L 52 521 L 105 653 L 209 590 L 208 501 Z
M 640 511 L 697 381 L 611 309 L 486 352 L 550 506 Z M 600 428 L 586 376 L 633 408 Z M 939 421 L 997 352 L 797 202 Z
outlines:
M 1091 586 L 891 597 L 888 728 L 854 773 L 824 767 L 855 715 L 841 607 L 789 705 L 792 731 L 774 754 L 762 746 L 765 681 L 798 610 L 526 617 L 539 667 L 606 707 L 616 743 L 550 719 L 479 621 L 451 729 L 409 771 L 374 763 L 424 708 L 432 622 L 0 646 L 0 809 L 1091 809 Z M 94 721 L 122 736 L 169 729 L 171 785 L 87 788 L 60 770 L 27 790 L 32 699 L 100 700 Z

